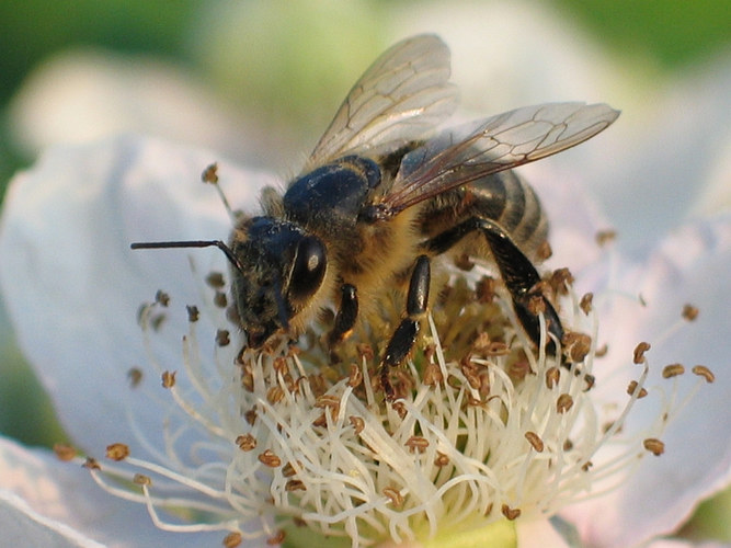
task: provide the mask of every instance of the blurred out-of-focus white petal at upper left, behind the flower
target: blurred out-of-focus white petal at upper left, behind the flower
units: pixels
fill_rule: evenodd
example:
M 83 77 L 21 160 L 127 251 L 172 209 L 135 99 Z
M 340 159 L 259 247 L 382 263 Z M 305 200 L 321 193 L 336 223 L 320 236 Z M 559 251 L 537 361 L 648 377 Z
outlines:
M 243 121 L 189 72 L 144 56 L 81 49 L 58 54 L 23 82 L 10 106 L 19 145 L 37 155 L 136 132 L 240 155 Z

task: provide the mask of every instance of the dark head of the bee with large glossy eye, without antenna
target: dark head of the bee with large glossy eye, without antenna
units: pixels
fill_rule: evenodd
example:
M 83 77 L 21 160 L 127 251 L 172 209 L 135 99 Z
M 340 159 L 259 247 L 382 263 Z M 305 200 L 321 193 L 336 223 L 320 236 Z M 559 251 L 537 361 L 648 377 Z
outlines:
M 318 292 L 325 248 L 319 238 L 272 217 L 241 220 L 229 248 L 239 321 L 249 345 L 259 347 L 276 331 L 289 331 L 290 320 Z

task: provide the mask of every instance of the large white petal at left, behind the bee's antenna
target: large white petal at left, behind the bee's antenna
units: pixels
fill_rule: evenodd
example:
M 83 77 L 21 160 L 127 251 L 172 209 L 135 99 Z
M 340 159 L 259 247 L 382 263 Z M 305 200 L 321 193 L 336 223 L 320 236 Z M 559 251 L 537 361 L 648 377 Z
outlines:
M 196 299 L 190 256 L 202 272 L 226 261 L 217 250 L 132 251 L 145 240 L 226 239 L 228 217 L 201 171 L 220 158 L 156 140 L 121 138 L 59 148 L 18 175 L 0 226 L 0 285 L 26 357 L 39 372 L 73 439 L 99 454 L 112 442 L 140 454 L 126 413 L 161 443 L 158 378 L 130 390 L 132 367 L 148 358 L 136 323 L 157 289 L 173 301 L 161 336 L 165 367 L 180 366 L 184 299 Z M 265 178 L 221 163 L 236 206 L 251 208 Z M 199 277 L 199 276 L 198 276 Z M 213 341 L 212 341 L 213 345 Z M 146 373 L 150 373 L 149 369 Z

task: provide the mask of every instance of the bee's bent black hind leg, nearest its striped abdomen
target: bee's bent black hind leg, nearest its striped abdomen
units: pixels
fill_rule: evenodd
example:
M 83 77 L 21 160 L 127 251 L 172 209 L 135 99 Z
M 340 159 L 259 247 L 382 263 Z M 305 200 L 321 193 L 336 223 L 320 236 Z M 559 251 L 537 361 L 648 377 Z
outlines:
M 500 225 L 481 217 L 472 217 L 435 236 L 424 247 L 432 253 L 444 253 L 475 230 L 482 232 L 488 240 L 500 275 L 511 294 L 513 309 L 530 340 L 536 346 L 540 345 L 538 315 L 542 312 L 548 332 L 561 341 L 563 327 L 558 312 L 540 290 L 538 271 Z M 556 354 L 556 342 L 552 339 L 546 343 L 546 350 Z

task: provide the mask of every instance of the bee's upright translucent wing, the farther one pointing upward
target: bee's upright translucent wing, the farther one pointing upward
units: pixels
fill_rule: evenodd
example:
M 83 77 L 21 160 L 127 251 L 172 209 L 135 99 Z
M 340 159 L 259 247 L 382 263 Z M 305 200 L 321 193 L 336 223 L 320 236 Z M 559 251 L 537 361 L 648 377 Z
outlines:
M 306 169 L 349 152 L 396 150 L 423 137 L 457 106 L 449 73 L 449 49 L 434 35 L 391 46 L 350 91 Z

